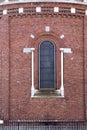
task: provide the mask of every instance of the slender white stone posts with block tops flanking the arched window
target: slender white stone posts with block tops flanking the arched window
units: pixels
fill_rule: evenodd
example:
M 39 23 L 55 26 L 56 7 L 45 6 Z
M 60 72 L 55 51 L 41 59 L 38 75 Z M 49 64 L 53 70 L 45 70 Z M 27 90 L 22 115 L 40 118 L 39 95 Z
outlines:
M 31 98 L 36 98 L 35 93 L 38 92 L 37 89 L 35 89 L 34 86 L 34 50 L 35 48 L 24 48 L 23 52 L 24 53 L 31 53 L 32 54 L 32 85 L 31 85 Z M 56 90 L 58 93 L 60 93 L 61 98 L 64 98 L 64 53 L 72 53 L 71 48 L 60 48 L 61 51 L 61 87 L 59 90 Z M 41 96 L 39 96 L 41 97 Z M 38 96 L 37 96 L 38 98 Z

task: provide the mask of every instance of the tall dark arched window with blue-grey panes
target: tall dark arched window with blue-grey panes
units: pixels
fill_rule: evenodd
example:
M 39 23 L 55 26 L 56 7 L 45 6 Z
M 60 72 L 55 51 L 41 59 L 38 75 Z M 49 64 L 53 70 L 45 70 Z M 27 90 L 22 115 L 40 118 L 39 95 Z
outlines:
M 51 41 L 43 41 L 39 45 L 39 89 L 55 89 L 55 45 Z

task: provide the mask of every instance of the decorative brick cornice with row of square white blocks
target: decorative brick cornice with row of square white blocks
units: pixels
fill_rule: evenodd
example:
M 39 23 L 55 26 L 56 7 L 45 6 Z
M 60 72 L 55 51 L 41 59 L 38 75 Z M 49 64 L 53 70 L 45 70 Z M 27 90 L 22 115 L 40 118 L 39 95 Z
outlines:
M 58 7 L 58 6 L 29 6 L 29 7 L 21 7 L 21 8 L 8 8 L 4 10 L 0 10 L 0 17 L 3 15 L 8 15 L 10 18 L 18 18 L 18 17 L 83 17 L 87 15 L 85 9 L 79 8 L 70 8 L 70 7 Z

